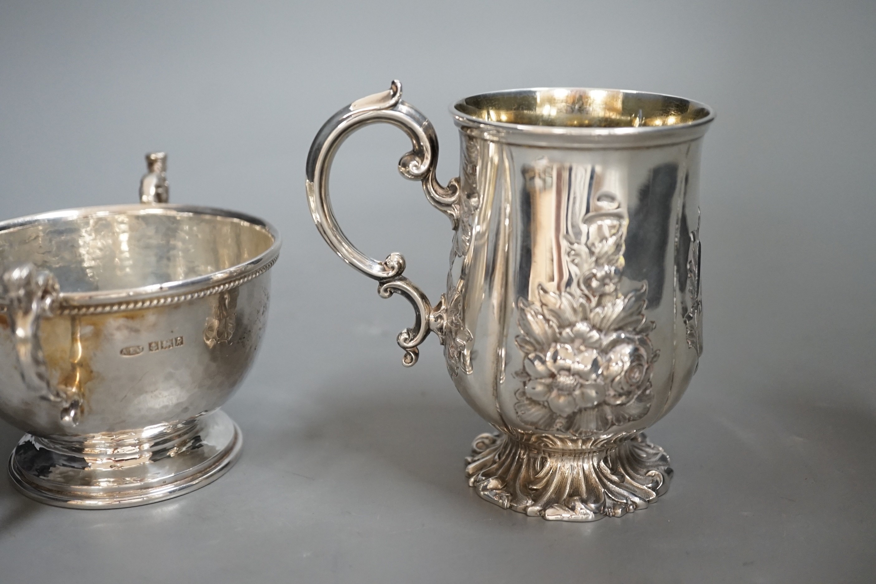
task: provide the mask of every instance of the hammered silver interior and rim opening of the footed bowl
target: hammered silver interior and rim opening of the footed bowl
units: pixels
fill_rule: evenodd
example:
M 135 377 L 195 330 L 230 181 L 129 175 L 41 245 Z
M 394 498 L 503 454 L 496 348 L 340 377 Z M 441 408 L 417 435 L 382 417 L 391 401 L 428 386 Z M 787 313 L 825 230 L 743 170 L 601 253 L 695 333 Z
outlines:
M 51 271 L 65 304 L 196 292 L 258 271 L 279 254 L 268 222 L 225 209 L 119 205 L 0 222 L 0 269 Z

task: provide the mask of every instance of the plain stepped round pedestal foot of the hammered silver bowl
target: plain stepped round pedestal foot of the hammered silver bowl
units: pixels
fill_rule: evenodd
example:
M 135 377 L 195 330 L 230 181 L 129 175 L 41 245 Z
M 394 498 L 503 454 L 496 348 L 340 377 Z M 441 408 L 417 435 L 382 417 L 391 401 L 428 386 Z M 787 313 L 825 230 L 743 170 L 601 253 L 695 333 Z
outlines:
M 18 442 L 12 482 L 40 503 L 115 509 L 184 495 L 222 476 L 240 454 L 241 435 L 225 412 L 174 425 L 74 440 Z

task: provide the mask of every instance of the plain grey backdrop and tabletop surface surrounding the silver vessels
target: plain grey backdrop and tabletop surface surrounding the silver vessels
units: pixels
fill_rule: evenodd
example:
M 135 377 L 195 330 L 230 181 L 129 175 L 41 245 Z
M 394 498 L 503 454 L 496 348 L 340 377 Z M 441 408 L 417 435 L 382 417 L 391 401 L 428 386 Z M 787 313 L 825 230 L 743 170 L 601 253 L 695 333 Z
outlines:
M 0 481 L 0 582 L 868 582 L 876 568 L 876 4 L 436 2 L 0 4 L 0 215 L 134 201 L 145 151 L 176 202 L 285 238 L 271 326 L 227 405 L 228 475 L 130 510 L 60 510 Z M 307 148 L 400 78 L 456 175 L 450 102 L 531 86 L 709 103 L 705 354 L 649 432 L 675 481 L 594 524 L 500 510 L 463 479 L 487 429 L 437 341 L 322 243 Z M 345 144 L 348 235 L 406 254 L 433 299 L 451 232 L 395 171 L 406 138 Z M 4 375 L 9 375 L 4 372 Z M 0 452 L 20 432 L 0 423 Z

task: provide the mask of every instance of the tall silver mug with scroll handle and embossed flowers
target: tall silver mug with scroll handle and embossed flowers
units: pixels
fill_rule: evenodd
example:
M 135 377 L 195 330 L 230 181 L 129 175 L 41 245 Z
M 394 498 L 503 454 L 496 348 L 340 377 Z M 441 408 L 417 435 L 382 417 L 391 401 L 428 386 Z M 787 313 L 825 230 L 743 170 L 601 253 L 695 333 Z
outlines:
M 460 176 L 441 186 L 433 126 L 398 81 L 338 111 L 307 158 L 314 222 L 380 296 L 411 301 L 404 363 L 437 334 L 456 389 L 498 430 L 466 459 L 480 496 L 563 521 L 643 509 L 672 469 L 641 431 L 682 397 L 703 348 L 697 192 L 714 116 L 680 97 L 580 88 L 475 95 L 450 112 Z M 332 214 L 332 158 L 377 122 L 410 137 L 399 172 L 453 224 L 436 305 L 403 257 L 364 256 Z

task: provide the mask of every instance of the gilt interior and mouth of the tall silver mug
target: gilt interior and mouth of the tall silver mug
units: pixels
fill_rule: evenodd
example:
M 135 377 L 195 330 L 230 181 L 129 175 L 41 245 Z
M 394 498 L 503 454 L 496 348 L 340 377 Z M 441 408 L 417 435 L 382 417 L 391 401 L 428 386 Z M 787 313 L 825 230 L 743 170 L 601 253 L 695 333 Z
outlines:
M 456 102 L 451 112 L 463 123 L 585 134 L 679 129 L 709 123 L 714 117 L 705 104 L 683 97 L 591 88 L 510 89 L 472 95 Z

